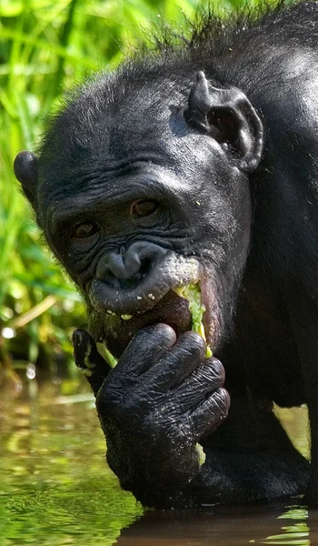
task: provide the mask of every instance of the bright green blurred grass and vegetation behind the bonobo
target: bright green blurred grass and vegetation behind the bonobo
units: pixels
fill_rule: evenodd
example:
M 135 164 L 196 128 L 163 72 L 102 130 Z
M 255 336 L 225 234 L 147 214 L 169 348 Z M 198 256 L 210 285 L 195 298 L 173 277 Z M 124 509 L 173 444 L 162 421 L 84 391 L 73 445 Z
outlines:
M 231 9 L 239 0 L 222 4 Z M 84 307 L 41 241 L 13 174 L 65 89 L 113 70 L 161 21 L 184 25 L 200 0 L 0 0 L 0 381 L 12 366 L 71 362 Z M 52 364 L 52 362 L 54 364 Z M 13 364 L 14 363 L 14 364 Z

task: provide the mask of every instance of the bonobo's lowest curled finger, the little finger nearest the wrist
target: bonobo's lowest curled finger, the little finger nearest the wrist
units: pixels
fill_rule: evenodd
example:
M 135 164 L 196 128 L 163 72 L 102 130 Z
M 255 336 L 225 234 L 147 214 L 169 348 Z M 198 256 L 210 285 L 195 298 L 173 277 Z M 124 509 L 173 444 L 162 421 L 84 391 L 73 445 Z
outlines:
M 194 440 L 200 440 L 204 434 L 212 432 L 221 424 L 227 417 L 230 402 L 227 390 L 218 389 L 188 415 Z

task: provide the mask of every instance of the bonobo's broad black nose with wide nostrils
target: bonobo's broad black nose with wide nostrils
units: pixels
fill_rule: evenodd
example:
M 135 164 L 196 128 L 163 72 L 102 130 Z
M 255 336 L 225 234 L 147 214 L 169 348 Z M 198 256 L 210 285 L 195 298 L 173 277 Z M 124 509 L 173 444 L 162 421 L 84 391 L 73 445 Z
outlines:
M 154 243 L 138 241 L 128 248 L 118 248 L 100 258 L 96 278 L 114 288 L 134 288 L 167 254 Z

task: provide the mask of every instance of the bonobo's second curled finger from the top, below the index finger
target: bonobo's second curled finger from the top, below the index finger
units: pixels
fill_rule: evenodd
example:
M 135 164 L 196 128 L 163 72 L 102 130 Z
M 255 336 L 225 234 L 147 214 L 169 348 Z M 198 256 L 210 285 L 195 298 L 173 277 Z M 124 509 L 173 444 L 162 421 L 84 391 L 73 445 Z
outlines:
M 155 388 L 174 389 L 204 360 L 206 345 L 204 339 L 193 331 L 185 332 L 174 343 L 174 347 L 157 361 L 144 379 Z

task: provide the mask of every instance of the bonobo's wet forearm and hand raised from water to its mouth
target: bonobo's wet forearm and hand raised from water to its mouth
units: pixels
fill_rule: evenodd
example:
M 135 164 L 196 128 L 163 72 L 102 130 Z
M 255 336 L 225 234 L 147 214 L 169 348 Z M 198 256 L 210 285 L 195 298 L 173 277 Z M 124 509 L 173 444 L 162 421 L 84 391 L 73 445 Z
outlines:
M 283 435 L 283 453 L 271 450 L 272 441 L 263 450 L 241 449 L 237 434 L 233 450 L 231 445 L 223 450 L 203 442 L 225 419 L 229 396 L 222 388 L 222 364 L 204 359 L 204 341 L 194 332 L 175 341 L 174 331 L 166 325 L 140 330 L 107 374 L 86 332 L 77 330 L 74 342 L 77 366 L 91 369 L 87 379 L 107 440 L 108 464 L 121 486 L 144 505 L 190 507 L 300 491 L 306 463 L 272 413 L 261 416 L 264 422 L 254 420 L 254 426 L 268 426 L 273 437 Z M 247 416 L 246 426 L 252 421 Z M 239 431 L 240 427 L 242 423 Z M 196 449 L 200 440 L 206 452 L 201 467 Z

